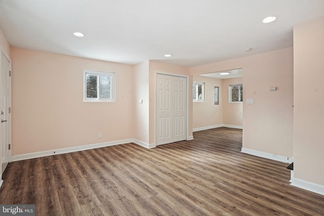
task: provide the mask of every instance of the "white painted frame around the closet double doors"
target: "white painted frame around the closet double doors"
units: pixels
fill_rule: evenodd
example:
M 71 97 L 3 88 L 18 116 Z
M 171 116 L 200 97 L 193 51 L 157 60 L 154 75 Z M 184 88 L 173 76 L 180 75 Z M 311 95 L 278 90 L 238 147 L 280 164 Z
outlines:
M 155 143 L 154 147 L 157 146 L 157 92 L 156 92 L 156 87 L 157 87 L 157 74 L 162 74 L 162 75 L 169 75 L 169 76 L 177 76 L 177 77 L 184 77 L 186 78 L 186 140 L 189 140 L 189 76 L 184 75 L 184 74 L 177 74 L 177 73 L 169 73 L 169 72 L 164 72 L 164 71 L 154 71 L 154 80 L 155 80 L 155 87 L 154 87 L 154 137 L 155 137 Z

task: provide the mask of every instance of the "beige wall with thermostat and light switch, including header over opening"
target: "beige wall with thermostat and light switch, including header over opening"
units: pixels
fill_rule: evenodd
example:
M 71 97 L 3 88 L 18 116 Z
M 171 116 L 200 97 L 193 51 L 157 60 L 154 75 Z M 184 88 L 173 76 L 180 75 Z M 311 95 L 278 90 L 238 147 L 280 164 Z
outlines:
M 293 156 L 293 48 L 190 68 L 191 75 L 243 69 L 243 147 Z M 270 92 L 269 87 L 277 87 Z M 246 99 L 254 99 L 247 104 Z

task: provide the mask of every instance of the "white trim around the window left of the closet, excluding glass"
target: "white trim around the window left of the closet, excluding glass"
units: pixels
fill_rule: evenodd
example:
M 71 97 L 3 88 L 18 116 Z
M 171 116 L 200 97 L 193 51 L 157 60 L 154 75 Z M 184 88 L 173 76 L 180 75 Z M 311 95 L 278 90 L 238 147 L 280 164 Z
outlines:
M 110 75 L 111 76 L 111 99 L 87 98 L 87 73 L 98 75 Z M 98 92 L 99 95 L 99 92 Z M 83 71 L 83 102 L 115 102 L 115 73 L 98 70 L 84 70 Z

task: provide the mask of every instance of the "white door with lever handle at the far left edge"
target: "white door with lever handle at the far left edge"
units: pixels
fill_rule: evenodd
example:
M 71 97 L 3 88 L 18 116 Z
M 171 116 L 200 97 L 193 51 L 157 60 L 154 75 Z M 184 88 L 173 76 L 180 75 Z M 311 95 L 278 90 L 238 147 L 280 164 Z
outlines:
M 1 73 L 0 73 L 0 146 L 1 146 L 1 174 L 4 173 L 8 163 L 11 160 L 10 146 L 10 124 L 11 124 L 11 68 L 10 60 L 1 52 Z

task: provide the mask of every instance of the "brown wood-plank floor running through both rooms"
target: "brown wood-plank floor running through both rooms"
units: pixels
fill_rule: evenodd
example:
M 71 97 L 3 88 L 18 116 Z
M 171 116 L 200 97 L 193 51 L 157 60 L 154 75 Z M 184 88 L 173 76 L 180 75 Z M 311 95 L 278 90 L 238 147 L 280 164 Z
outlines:
M 324 196 L 289 185 L 287 163 L 240 153 L 220 127 L 153 149 L 124 144 L 8 165 L 1 204 L 36 215 L 324 215 Z

